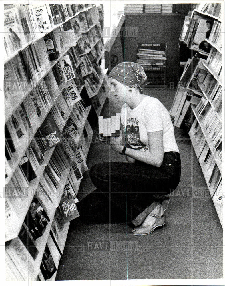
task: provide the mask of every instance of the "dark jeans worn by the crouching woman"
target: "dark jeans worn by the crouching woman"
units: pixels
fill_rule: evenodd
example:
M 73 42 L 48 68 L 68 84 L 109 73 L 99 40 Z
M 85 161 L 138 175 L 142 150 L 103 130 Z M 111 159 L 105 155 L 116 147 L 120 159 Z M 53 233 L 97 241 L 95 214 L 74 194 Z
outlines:
M 87 223 L 131 221 L 178 186 L 180 171 L 177 152 L 165 152 L 159 168 L 137 160 L 94 165 L 90 178 L 97 189 L 78 203 L 81 219 Z

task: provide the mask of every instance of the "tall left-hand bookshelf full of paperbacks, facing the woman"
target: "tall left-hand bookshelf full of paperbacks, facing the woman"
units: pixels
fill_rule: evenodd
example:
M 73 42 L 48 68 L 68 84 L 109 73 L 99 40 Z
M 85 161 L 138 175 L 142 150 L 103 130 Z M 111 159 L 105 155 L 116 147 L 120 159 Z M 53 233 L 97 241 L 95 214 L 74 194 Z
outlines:
M 43 255 L 57 270 L 70 225 L 58 207 L 66 198 L 77 202 L 83 163 L 75 154 L 86 162 L 109 90 L 106 70 L 98 65 L 104 53 L 102 7 L 40 5 L 48 25 L 39 26 L 42 31 L 30 17 L 37 5 L 5 9 L 5 18 L 19 19 L 5 28 L 7 281 L 55 279 L 57 271 L 41 271 Z M 20 42 L 13 43 L 10 29 Z M 82 41 L 90 46 L 84 52 Z M 19 82 L 14 92 L 11 84 Z

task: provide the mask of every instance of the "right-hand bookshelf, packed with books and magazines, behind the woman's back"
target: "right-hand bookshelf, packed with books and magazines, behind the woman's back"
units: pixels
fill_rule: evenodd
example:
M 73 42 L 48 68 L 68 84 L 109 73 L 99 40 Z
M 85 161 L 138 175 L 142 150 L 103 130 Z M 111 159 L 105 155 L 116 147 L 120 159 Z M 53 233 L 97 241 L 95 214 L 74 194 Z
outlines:
M 188 131 L 222 225 L 224 35 L 221 9 L 221 4 L 217 3 L 199 4 L 185 19 L 180 41 L 191 48 L 196 35 L 201 33 L 205 35 L 203 41 L 210 46 L 207 53 L 201 53 L 199 46 L 192 59 L 186 62 L 170 116 L 175 126 Z M 210 23 L 208 31 L 201 26 L 206 22 Z

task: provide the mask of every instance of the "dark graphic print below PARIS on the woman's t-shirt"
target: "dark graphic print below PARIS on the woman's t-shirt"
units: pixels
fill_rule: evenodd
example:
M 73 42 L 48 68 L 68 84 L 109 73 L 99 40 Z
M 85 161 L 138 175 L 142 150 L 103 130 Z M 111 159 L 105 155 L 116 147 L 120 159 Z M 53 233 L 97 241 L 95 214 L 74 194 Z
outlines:
M 138 125 L 134 126 L 134 125 L 127 124 L 125 132 L 126 132 L 126 142 L 130 145 L 131 148 L 136 149 L 136 150 L 142 150 L 142 151 L 148 150 L 148 146 L 146 146 L 140 140 L 140 132 L 139 132 Z

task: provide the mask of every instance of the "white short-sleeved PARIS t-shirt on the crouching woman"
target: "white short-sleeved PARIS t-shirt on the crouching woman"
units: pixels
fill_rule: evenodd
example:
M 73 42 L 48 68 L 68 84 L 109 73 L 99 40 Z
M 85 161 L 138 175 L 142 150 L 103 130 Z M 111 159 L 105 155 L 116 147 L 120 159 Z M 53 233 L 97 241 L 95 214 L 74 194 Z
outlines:
M 126 143 L 131 148 L 149 152 L 147 132 L 162 130 L 164 152 L 179 152 L 169 112 L 157 98 L 146 96 L 134 109 L 125 103 L 121 123 L 126 132 Z

